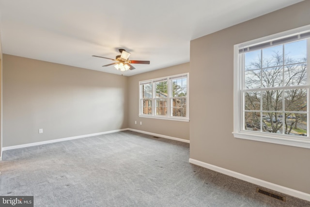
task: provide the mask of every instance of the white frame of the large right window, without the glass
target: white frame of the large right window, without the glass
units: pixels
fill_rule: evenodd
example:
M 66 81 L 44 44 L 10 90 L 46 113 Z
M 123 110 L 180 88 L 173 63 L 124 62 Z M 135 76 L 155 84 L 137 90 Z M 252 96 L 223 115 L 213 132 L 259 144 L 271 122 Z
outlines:
M 310 136 L 309 136 L 309 128 L 307 130 L 307 137 L 294 136 L 294 135 L 284 135 L 277 133 L 267 133 L 267 132 L 256 132 L 250 130 L 243 130 L 243 105 L 244 100 L 242 97 L 241 89 L 243 84 L 243 68 L 239 65 L 241 64 L 239 49 L 247 48 L 255 45 L 260 45 L 263 43 L 268 43 L 271 41 L 276 41 L 279 39 L 283 39 L 286 37 L 290 37 L 293 35 L 298 35 L 300 33 L 310 32 L 310 25 L 300 27 L 297 29 L 280 32 L 277 34 L 269 35 L 263 38 L 259 38 L 256 40 L 244 42 L 241 44 L 234 45 L 234 85 L 233 85 L 233 136 L 234 138 L 247 139 L 253 141 L 260 141 L 266 143 L 276 143 L 276 144 L 284 144 L 289 146 L 310 148 Z M 310 42 L 310 40 L 308 40 Z M 307 85 L 305 88 L 310 90 L 310 44 L 307 46 Z M 310 97 L 308 94 L 308 110 L 310 105 Z M 310 125 L 310 114 L 307 114 L 308 118 L 308 126 Z

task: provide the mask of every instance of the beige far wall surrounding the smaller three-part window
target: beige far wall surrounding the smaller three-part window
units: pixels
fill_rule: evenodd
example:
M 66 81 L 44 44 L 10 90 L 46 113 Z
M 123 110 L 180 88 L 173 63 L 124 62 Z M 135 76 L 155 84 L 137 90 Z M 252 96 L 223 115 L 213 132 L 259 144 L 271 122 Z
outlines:
M 128 80 L 128 89 L 130 93 L 128 127 L 155 134 L 189 140 L 189 122 L 139 117 L 139 81 L 156 79 L 187 72 L 189 72 L 189 63 L 179 64 L 148 73 L 130 76 Z M 135 124 L 135 121 L 137 121 L 137 124 Z M 142 122 L 142 125 L 140 125 L 140 121 Z

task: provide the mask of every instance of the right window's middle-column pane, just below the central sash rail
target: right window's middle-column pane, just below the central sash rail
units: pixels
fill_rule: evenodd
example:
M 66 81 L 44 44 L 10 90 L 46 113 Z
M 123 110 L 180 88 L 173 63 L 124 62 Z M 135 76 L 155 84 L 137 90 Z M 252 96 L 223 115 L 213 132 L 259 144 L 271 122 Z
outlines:
M 282 111 L 282 90 L 263 91 L 263 111 Z

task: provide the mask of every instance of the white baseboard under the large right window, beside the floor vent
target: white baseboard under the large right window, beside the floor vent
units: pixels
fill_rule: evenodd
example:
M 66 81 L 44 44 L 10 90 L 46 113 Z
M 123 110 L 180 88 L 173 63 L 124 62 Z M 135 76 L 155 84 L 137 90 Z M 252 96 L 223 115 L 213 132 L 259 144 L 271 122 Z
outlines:
M 261 180 L 261 179 L 255 178 L 255 177 L 243 175 L 241 173 L 237 173 L 237 172 L 225 169 L 225 168 L 217 167 L 216 165 L 208 164 L 208 163 L 196 160 L 196 159 L 190 158 L 189 163 L 199 165 L 201 167 L 204 167 L 204 168 L 207 168 L 207 169 L 210 169 L 210 170 L 213 170 L 213 171 L 225 174 L 225 175 L 229 175 L 229 176 L 238 178 L 240 180 L 244 180 L 244 181 L 265 187 L 267 189 L 271 189 L 273 191 L 282 192 L 282 193 L 285 193 L 287 195 L 291 195 L 291 196 L 294 196 L 294 197 L 297 197 L 297 198 L 300 198 L 303 200 L 310 201 L 310 194 L 305 193 L 305 192 L 296 191 L 294 189 L 290 189 L 290 188 L 287 188 L 284 186 L 280 186 L 280 185 L 277 185 L 274 183 L 270 183 L 270 182 L 267 182 L 267 181 L 264 181 L 264 180 Z

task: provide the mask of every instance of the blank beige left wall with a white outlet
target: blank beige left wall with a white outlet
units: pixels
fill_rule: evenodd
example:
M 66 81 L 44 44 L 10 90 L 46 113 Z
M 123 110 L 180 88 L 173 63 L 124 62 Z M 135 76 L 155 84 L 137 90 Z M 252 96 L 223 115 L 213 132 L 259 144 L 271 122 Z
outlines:
M 127 128 L 127 80 L 4 54 L 3 147 Z

